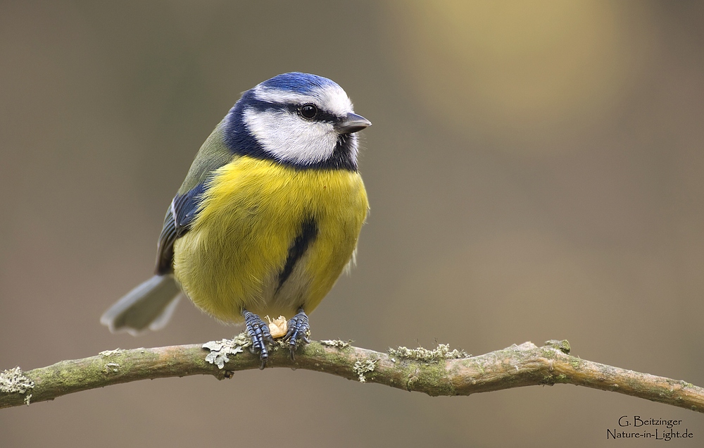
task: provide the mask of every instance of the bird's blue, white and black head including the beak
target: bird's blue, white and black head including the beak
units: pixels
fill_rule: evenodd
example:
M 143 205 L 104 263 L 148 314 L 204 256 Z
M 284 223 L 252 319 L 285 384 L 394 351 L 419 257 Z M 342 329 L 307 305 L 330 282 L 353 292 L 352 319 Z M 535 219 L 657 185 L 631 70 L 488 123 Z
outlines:
M 355 132 L 371 125 L 335 82 L 284 73 L 242 94 L 225 118 L 232 151 L 298 168 L 357 169 Z

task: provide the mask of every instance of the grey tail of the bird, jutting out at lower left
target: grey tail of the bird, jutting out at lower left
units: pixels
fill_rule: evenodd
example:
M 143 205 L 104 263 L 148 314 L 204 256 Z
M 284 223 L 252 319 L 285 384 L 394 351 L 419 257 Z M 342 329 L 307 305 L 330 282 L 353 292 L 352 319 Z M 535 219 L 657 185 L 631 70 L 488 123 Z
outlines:
M 133 336 L 147 328 L 159 330 L 169 321 L 180 297 L 172 275 L 154 275 L 108 308 L 100 323 L 111 332 L 126 331 Z

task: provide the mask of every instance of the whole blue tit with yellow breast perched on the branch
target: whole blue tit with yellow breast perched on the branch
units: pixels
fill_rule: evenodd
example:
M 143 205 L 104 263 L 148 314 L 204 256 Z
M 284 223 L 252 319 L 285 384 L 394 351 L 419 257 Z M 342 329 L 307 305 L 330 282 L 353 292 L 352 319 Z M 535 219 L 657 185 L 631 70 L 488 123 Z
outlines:
M 260 316 L 286 316 L 293 356 L 309 342 L 307 313 L 354 260 L 369 208 L 356 132 L 370 124 L 325 77 L 284 73 L 244 92 L 168 207 L 156 275 L 101 323 L 156 330 L 183 292 L 219 321 L 244 321 L 262 368 L 273 340 Z

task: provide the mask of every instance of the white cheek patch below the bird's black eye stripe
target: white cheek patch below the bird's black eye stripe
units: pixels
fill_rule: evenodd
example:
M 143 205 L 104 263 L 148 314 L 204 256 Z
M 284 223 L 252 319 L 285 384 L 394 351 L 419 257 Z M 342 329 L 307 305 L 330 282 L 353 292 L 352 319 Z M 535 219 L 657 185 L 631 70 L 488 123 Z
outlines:
M 337 132 L 332 123 L 308 121 L 282 110 L 244 109 L 244 124 L 265 151 L 279 161 L 308 165 L 332 156 Z

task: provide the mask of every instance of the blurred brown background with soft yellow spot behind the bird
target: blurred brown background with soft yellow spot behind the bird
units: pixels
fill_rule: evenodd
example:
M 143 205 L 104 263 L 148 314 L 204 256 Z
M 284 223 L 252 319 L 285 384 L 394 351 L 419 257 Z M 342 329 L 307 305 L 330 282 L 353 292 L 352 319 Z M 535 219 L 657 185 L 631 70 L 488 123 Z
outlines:
M 358 267 L 315 339 L 564 338 L 704 385 L 702 23 L 697 1 L 4 1 L 0 368 L 239 331 L 188 301 L 137 339 L 99 316 L 151 275 L 165 208 L 239 93 L 301 70 L 374 123 Z M 704 443 L 700 413 L 571 385 L 431 398 L 268 369 L 0 411 L 0 445 L 659 446 L 606 441 L 634 414 Z

